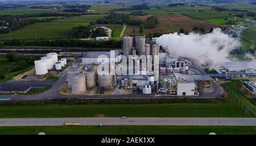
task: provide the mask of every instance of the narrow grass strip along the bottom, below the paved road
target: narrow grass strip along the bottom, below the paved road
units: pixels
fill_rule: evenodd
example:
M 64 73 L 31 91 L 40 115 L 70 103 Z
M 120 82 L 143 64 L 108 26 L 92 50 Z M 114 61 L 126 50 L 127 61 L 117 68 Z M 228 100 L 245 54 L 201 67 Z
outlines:
M 146 134 L 165 134 L 165 135 L 208 135 L 215 132 L 217 135 L 231 134 L 244 135 L 255 134 L 255 126 L 31 126 L 31 127 L 0 127 L 0 134 L 30 134 L 37 135 L 44 132 L 51 134 L 91 134 L 91 135 L 146 135 Z

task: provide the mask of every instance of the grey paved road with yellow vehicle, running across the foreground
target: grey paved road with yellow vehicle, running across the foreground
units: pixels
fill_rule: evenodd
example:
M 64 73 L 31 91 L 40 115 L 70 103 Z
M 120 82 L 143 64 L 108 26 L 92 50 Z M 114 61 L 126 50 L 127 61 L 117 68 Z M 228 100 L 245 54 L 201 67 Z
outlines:
M 93 125 L 256 126 L 256 118 L 7 118 L 0 126 L 61 126 L 64 123 Z

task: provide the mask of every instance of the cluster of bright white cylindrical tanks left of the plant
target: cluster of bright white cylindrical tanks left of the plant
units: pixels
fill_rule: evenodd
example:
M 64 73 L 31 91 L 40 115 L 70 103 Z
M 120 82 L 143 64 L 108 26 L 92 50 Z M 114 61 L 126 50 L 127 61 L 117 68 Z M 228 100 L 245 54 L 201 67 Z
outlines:
M 46 65 L 45 65 L 46 64 Z M 41 60 L 35 61 L 36 74 L 46 74 L 48 70 L 53 69 L 55 65 L 56 70 L 61 70 L 67 64 L 67 59 L 62 58 L 58 61 L 57 53 L 48 53 L 47 56 L 41 57 Z M 45 67 L 46 66 L 46 67 Z

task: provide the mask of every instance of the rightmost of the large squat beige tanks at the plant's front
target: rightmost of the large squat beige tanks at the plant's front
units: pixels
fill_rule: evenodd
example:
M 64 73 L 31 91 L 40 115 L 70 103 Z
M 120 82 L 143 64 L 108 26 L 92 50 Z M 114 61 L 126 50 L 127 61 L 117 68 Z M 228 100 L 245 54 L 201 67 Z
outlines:
M 98 86 L 109 87 L 113 82 L 113 75 L 105 73 L 104 71 L 98 72 Z

